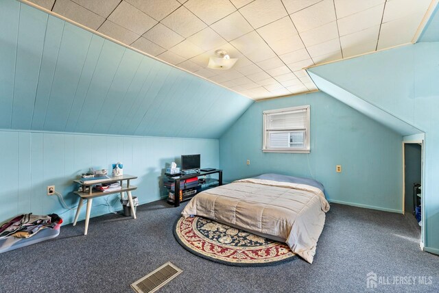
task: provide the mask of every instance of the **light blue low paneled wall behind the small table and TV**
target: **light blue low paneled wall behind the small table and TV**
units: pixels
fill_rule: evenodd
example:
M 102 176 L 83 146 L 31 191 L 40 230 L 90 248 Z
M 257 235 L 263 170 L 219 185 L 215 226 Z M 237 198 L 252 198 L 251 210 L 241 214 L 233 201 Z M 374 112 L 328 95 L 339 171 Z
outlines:
M 69 206 L 78 204 L 72 181 L 88 168 L 108 168 L 123 163 L 123 173 L 137 175 L 132 181 L 139 188 L 133 193 L 141 204 L 156 201 L 166 193 L 161 176 L 180 155 L 200 153 L 202 166 L 219 165 L 218 140 L 104 136 L 78 133 L 0 131 L 0 162 L 3 170 L 0 188 L 0 222 L 21 213 L 59 214 L 64 223 L 73 222 L 75 210 L 62 207 L 56 196 L 47 196 L 47 186 L 55 185 Z M 119 195 L 93 201 L 92 216 L 120 210 Z M 81 219 L 85 218 L 82 210 Z

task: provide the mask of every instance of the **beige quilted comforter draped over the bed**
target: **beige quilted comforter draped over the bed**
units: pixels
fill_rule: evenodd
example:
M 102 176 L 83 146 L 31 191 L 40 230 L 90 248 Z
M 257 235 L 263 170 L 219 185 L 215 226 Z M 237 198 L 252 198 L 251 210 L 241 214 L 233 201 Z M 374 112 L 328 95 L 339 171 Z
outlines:
M 197 194 L 182 215 L 217 220 L 266 238 L 286 242 L 310 264 L 329 203 L 312 186 L 242 179 Z

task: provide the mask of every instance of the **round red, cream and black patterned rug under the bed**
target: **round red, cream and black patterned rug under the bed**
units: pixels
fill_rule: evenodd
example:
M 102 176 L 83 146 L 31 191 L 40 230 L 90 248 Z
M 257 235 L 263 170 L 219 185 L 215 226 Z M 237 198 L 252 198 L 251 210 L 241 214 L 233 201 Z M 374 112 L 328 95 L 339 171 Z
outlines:
M 174 235 L 191 253 L 229 266 L 273 266 L 296 258 L 285 243 L 198 216 L 179 218 Z

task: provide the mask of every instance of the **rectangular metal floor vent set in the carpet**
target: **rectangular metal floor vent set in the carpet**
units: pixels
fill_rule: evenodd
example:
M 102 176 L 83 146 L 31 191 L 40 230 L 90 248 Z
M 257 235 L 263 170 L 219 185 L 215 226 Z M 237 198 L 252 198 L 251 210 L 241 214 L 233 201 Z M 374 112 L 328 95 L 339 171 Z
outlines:
M 160 268 L 157 268 L 153 272 L 139 279 L 131 284 L 132 290 L 137 293 L 152 293 L 156 292 L 158 289 L 162 288 L 167 282 L 171 281 L 178 275 L 180 275 L 182 270 L 177 268 L 171 262 L 167 262 Z

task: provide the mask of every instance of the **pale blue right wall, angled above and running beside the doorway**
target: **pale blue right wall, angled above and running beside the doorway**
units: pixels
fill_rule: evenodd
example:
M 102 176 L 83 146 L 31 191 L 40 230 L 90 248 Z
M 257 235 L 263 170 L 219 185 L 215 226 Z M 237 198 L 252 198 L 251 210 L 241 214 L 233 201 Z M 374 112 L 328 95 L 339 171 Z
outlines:
M 425 132 L 425 246 L 439 253 L 439 42 L 419 42 L 311 68 Z

